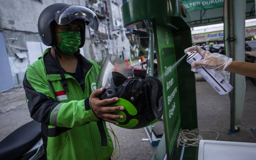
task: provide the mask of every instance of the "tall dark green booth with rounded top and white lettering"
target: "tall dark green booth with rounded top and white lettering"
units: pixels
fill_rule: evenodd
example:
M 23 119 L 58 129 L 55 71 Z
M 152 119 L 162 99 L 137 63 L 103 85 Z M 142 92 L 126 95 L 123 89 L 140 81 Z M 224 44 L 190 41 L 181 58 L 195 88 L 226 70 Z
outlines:
M 164 159 L 165 153 L 167 159 L 180 159 L 179 132 L 197 128 L 195 76 L 184 57 L 184 49 L 192 45 L 191 33 L 181 8 L 180 0 L 131 0 L 122 6 L 124 27 L 148 32 L 149 57 L 155 50 L 163 84 L 164 136 L 152 159 Z M 183 159 L 197 159 L 197 150 L 186 147 Z

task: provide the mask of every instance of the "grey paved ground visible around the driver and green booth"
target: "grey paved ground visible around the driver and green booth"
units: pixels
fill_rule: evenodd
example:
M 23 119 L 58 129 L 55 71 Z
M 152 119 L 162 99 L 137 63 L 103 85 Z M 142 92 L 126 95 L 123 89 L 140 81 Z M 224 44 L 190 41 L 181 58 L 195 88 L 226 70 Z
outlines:
M 229 130 L 229 98 L 219 96 L 205 81 L 196 82 L 198 127 L 200 130 L 214 130 L 220 133 L 218 140 L 256 142 L 250 131 L 256 127 L 256 86 L 246 81 L 247 91 L 243 111 L 241 131 L 228 135 Z M 29 122 L 28 108 L 22 87 L 0 93 L 0 140 L 19 126 Z M 148 160 L 155 148 L 147 141 L 143 129 L 127 130 L 112 125 L 121 147 L 121 160 Z M 214 135 L 205 135 L 212 138 Z

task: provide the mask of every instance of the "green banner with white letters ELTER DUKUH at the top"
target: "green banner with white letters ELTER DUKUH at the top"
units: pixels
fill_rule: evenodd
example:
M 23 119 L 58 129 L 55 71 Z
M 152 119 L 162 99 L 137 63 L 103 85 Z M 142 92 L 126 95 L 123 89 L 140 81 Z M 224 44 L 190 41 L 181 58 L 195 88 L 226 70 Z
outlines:
M 184 4 L 186 11 L 207 10 L 213 8 L 223 7 L 224 0 L 181 0 Z

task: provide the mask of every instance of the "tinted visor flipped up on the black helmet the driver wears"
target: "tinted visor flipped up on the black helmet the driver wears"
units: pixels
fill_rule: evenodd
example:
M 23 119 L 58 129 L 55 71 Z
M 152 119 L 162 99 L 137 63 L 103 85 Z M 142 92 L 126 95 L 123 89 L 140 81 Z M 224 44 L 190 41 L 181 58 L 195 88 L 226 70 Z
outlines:
M 59 25 L 66 25 L 75 19 L 82 19 L 89 22 L 88 26 L 93 30 L 97 30 L 99 27 L 96 14 L 86 7 L 69 5 L 59 12 L 56 12 L 55 21 Z

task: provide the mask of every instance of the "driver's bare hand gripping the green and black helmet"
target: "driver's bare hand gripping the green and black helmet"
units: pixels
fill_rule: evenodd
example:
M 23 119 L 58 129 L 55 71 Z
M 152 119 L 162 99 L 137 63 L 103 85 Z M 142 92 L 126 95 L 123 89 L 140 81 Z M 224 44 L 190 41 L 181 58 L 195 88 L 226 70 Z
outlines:
M 104 121 L 107 121 L 110 123 L 118 124 L 118 122 L 115 121 L 114 119 L 124 118 L 124 116 L 112 114 L 111 112 L 124 110 L 124 107 L 123 106 L 106 107 L 108 104 L 115 103 L 119 99 L 117 97 L 114 97 L 110 99 L 100 100 L 99 95 L 102 94 L 103 91 L 104 91 L 104 87 L 92 92 L 90 96 L 92 111 L 98 118 L 101 118 Z

